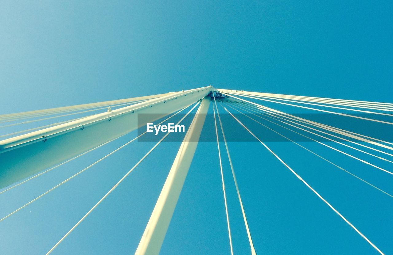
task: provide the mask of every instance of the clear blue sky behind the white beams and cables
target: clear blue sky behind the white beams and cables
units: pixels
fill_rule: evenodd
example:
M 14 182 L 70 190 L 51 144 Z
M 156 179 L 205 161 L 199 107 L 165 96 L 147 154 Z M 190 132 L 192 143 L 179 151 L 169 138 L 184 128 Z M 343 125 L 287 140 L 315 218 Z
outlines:
M 2 1 L 0 114 L 209 84 L 392 102 L 392 7 L 391 1 Z M 0 217 L 134 136 L 1 194 Z M 130 144 L 0 222 L 0 253 L 48 251 L 152 145 Z M 268 145 L 393 254 L 390 197 L 294 144 Z M 306 145 L 393 193 L 386 173 Z M 133 254 L 178 146 L 161 144 L 53 254 Z M 261 144 L 231 143 L 230 150 L 259 255 L 377 254 Z M 234 252 L 249 254 L 226 161 L 224 171 Z M 230 254 L 215 143 L 198 145 L 161 254 Z

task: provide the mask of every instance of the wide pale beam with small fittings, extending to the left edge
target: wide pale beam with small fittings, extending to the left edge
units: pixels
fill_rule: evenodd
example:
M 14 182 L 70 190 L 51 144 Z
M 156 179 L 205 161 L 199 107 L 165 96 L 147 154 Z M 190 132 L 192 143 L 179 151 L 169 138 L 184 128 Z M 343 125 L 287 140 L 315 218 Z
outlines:
M 0 189 L 138 128 L 137 114 L 153 122 L 197 102 L 213 87 L 171 93 L 80 120 L 0 141 Z M 153 117 L 152 117 L 153 118 Z

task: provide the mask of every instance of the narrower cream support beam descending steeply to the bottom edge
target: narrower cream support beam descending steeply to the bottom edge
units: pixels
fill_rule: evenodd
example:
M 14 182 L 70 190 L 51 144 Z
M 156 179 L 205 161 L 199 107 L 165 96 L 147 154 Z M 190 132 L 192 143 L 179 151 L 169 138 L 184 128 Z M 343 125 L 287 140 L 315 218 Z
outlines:
M 193 160 L 198 139 L 209 109 L 210 98 L 204 98 L 174 159 L 167 180 L 147 223 L 135 255 L 158 255 Z

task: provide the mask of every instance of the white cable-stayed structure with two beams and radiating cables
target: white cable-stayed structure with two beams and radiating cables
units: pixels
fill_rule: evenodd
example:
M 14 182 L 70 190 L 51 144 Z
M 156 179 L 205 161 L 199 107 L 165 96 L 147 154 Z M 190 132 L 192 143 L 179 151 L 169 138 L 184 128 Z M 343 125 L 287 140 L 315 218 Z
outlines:
M 378 187 L 378 185 L 366 180 L 351 172 L 351 169 L 344 169 L 339 162 L 324 157 L 307 148 L 303 141 L 313 142 L 324 148 L 334 151 L 339 155 L 344 155 L 348 160 L 355 160 L 365 164 L 376 171 L 382 171 L 387 177 L 393 175 L 390 168 L 384 164 L 393 163 L 393 143 L 387 137 L 380 137 L 378 133 L 370 135 L 367 132 L 360 132 L 350 128 L 338 127 L 336 125 L 326 124 L 322 121 L 307 118 L 307 115 L 295 115 L 288 111 L 279 110 L 274 106 L 283 106 L 286 109 L 298 109 L 299 111 L 315 112 L 330 117 L 337 117 L 342 120 L 353 119 L 355 121 L 370 122 L 378 125 L 386 125 L 388 129 L 393 122 L 389 118 L 393 116 L 393 103 L 385 102 L 368 102 L 360 100 L 345 100 L 337 98 L 307 97 L 297 95 L 281 95 L 272 93 L 259 93 L 250 91 L 239 91 L 229 89 L 216 89 L 212 86 L 201 87 L 196 89 L 171 92 L 160 95 L 151 95 L 146 97 L 127 98 L 121 100 L 112 100 L 91 104 L 82 104 L 76 106 L 58 107 L 52 109 L 28 111 L 22 113 L 13 113 L 0 115 L 0 127 L 4 130 L 10 130 L 8 133 L 1 134 L 4 140 L 0 141 L 0 195 L 11 189 L 17 189 L 29 180 L 39 178 L 40 176 L 58 168 L 68 162 L 82 157 L 83 155 L 94 151 L 97 148 L 108 144 L 119 137 L 137 130 L 146 130 L 138 132 L 138 135 L 129 142 L 123 144 L 111 153 L 104 155 L 95 162 L 92 162 L 86 168 L 71 175 L 70 177 L 59 182 L 57 185 L 48 189 L 41 195 L 35 197 L 26 204 L 21 205 L 14 211 L 9 211 L 6 215 L 0 215 L 0 226 L 5 220 L 11 219 L 10 216 L 17 216 L 18 212 L 28 208 L 30 204 L 41 199 L 51 191 L 69 182 L 84 171 L 94 168 L 96 164 L 105 160 L 110 155 L 121 150 L 128 144 L 136 141 L 138 138 L 149 134 L 144 126 L 138 122 L 138 116 L 144 116 L 143 124 L 147 122 L 166 123 L 177 115 L 182 116 L 176 124 L 180 125 L 185 120 L 192 118 L 191 124 L 187 126 L 184 137 L 178 153 L 173 161 L 169 175 L 163 185 L 162 191 L 154 210 L 146 225 L 145 231 L 141 236 L 139 246 L 135 251 L 138 255 L 151 255 L 160 252 L 165 234 L 169 227 L 176 203 L 182 191 L 182 187 L 187 176 L 191 161 L 196 151 L 198 140 L 201 137 L 202 129 L 206 122 L 209 107 L 213 108 L 213 125 L 215 134 L 215 150 L 219 162 L 219 169 L 222 181 L 222 195 L 224 200 L 223 210 L 226 213 L 226 222 L 228 228 L 228 239 L 231 254 L 233 243 L 231 237 L 230 211 L 227 205 L 227 193 L 225 189 L 225 179 L 222 160 L 229 160 L 230 171 L 233 183 L 236 189 L 239 206 L 241 208 L 242 220 L 246 229 L 247 239 L 250 246 L 250 254 L 257 254 L 254 243 L 258 240 L 253 239 L 253 226 L 247 220 L 248 208 L 243 204 L 241 189 L 235 175 L 239 173 L 240 166 L 235 166 L 231 154 L 230 130 L 235 126 L 242 132 L 249 134 L 253 139 L 260 143 L 272 157 L 276 158 L 288 170 L 288 173 L 294 175 L 299 182 L 303 183 L 305 188 L 316 195 L 321 203 L 326 205 L 327 210 L 336 213 L 339 220 L 343 220 L 349 228 L 353 229 L 355 235 L 359 235 L 367 242 L 377 253 L 384 254 L 375 244 L 373 237 L 369 237 L 362 232 L 362 229 L 356 228 L 356 222 L 348 219 L 329 199 L 318 193 L 318 188 L 311 186 L 307 180 L 299 175 L 297 169 L 292 168 L 285 162 L 285 155 L 278 155 L 270 148 L 265 138 L 258 134 L 259 129 L 266 129 L 280 137 L 283 141 L 292 142 L 299 148 L 308 151 L 310 155 L 321 158 L 324 162 L 331 164 L 340 171 L 350 175 L 358 182 L 367 185 L 384 196 L 393 198 L 389 191 Z M 292 110 L 293 111 L 293 110 Z M 99 112 L 99 113 L 97 113 Z M 95 113 L 94 115 L 90 115 Z M 73 115 L 83 114 L 83 117 L 73 118 Z M 231 118 L 232 126 L 225 126 L 222 118 Z M 58 121 L 61 118 L 66 120 Z M 40 126 L 40 122 L 50 121 L 51 124 Z M 251 121 L 255 126 L 251 127 L 248 122 Z M 52 123 L 53 122 L 53 123 Z M 28 129 L 23 127 L 29 125 Z M 20 130 L 17 129 L 21 127 Z M 257 127 L 257 128 L 256 128 Z M 285 129 L 288 132 L 281 132 Z M 391 129 L 389 129 L 391 130 Z M 288 135 L 292 134 L 292 135 Z M 156 144 L 126 173 L 123 177 L 114 183 L 107 193 L 97 200 L 96 204 L 82 217 L 75 222 L 74 226 L 66 229 L 65 234 L 48 249 L 46 254 L 54 251 L 62 241 L 86 219 L 95 208 L 100 206 L 101 202 L 107 199 L 125 178 L 138 168 L 141 162 L 147 158 L 151 152 L 156 149 L 161 142 L 173 135 L 170 132 L 165 133 L 163 137 L 156 140 Z M 301 142 L 294 138 L 301 138 Z M 221 139 L 222 137 L 222 139 Z M 351 153 L 351 151 L 356 152 Z M 361 155 L 361 156 L 359 156 Z M 362 157 L 364 155 L 364 157 Z M 373 158 L 374 160 L 368 160 Z M 233 229 L 232 229 L 233 231 Z

